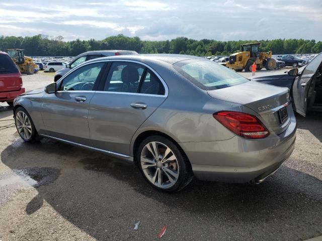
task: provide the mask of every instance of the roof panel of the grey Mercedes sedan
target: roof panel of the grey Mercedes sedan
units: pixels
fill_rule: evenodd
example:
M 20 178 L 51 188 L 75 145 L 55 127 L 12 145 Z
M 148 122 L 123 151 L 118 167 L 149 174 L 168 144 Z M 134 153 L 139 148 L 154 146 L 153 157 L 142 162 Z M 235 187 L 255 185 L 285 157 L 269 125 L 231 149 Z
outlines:
M 192 55 L 183 55 L 183 54 L 136 54 L 136 55 L 117 55 L 117 56 L 109 56 L 109 57 L 103 57 L 99 60 L 104 59 L 124 59 L 124 60 L 135 60 L 139 62 L 145 62 L 145 61 L 164 61 L 170 64 L 177 63 L 179 61 L 188 60 L 188 59 L 202 59 L 206 60 L 205 58 L 192 56 Z M 98 59 L 93 59 L 87 62 L 94 62 Z

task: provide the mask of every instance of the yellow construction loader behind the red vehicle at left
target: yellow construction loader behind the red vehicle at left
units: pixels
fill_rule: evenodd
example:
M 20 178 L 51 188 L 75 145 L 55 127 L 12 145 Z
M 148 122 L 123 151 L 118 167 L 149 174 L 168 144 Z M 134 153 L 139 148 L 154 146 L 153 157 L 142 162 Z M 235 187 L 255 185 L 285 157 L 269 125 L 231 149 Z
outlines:
M 15 62 L 21 73 L 34 74 L 37 64 L 32 58 L 25 56 L 23 49 L 7 49 L 7 53 Z

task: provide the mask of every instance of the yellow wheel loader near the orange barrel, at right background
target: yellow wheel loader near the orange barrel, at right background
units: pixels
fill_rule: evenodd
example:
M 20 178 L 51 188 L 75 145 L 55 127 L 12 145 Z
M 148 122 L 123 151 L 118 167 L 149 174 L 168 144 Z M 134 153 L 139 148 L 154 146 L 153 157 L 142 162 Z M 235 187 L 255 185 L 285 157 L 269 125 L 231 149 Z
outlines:
M 272 51 L 260 52 L 260 43 L 242 44 L 241 52 L 231 54 L 226 67 L 234 69 L 236 72 L 252 71 L 252 65 L 256 63 L 256 70 L 266 68 L 273 70 L 276 68 L 276 61 L 272 58 Z

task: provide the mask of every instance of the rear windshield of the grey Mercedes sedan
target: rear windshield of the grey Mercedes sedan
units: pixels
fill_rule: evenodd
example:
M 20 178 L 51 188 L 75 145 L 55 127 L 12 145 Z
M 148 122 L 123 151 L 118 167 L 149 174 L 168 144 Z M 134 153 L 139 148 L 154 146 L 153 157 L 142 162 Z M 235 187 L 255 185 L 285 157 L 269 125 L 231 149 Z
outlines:
M 203 90 L 222 89 L 249 81 L 233 70 L 206 59 L 184 60 L 173 67 Z

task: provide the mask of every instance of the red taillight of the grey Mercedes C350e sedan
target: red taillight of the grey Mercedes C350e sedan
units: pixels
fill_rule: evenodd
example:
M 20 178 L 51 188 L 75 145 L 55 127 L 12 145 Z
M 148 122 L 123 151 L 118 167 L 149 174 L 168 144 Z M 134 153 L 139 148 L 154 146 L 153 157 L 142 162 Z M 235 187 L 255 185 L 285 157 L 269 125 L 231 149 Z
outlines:
M 233 133 L 247 139 L 262 139 L 270 135 L 264 124 L 252 114 L 237 111 L 219 111 L 213 117 Z

